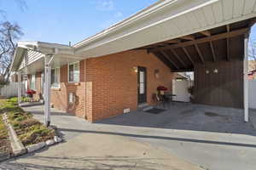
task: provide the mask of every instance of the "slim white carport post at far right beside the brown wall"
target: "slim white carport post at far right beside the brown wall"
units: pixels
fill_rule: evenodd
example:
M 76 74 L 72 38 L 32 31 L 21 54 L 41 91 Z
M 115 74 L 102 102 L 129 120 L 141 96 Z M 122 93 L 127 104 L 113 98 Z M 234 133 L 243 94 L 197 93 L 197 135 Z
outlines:
M 244 102 L 244 121 L 249 121 L 248 109 L 248 35 L 244 40 L 244 60 L 243 60 L 243 102 Z

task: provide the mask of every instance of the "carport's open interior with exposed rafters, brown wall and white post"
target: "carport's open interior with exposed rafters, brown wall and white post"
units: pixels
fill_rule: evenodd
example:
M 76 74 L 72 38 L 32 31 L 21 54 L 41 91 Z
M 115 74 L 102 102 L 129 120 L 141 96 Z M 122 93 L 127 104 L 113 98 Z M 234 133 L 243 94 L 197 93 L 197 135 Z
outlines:
M 244 108 L 247 116 L 247 39 L 254 19 L 242 20 L 143 48 L 172 72 L 195 72 L 195 103 Z

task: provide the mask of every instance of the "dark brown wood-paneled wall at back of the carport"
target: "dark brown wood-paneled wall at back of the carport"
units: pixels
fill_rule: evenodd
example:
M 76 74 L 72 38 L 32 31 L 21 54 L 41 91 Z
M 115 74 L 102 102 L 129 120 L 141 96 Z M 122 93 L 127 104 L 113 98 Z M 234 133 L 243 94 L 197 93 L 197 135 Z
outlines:
M 243 108 L 242 59 L 196 64 L 195 103 Z

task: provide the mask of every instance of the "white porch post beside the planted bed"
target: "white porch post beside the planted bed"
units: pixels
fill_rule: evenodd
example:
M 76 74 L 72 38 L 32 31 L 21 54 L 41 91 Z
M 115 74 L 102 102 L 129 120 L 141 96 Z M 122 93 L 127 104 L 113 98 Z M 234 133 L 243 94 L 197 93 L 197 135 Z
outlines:
M 44 57 L 44 124 L 46 127 L 50 124 L 50 71 L 53 55 Z

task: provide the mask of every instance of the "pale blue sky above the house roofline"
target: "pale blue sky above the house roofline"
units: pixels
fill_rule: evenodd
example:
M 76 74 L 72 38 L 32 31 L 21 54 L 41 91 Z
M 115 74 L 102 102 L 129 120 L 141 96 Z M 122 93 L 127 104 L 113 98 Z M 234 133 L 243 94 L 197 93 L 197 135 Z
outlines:
M 26 7 L 20 8 L 19 1 L 26 2 Z M 21 40 L 74 44 L 156 1 L 0 0 L 0 9 L 4 11 L 5 20 L 22 28 Z

